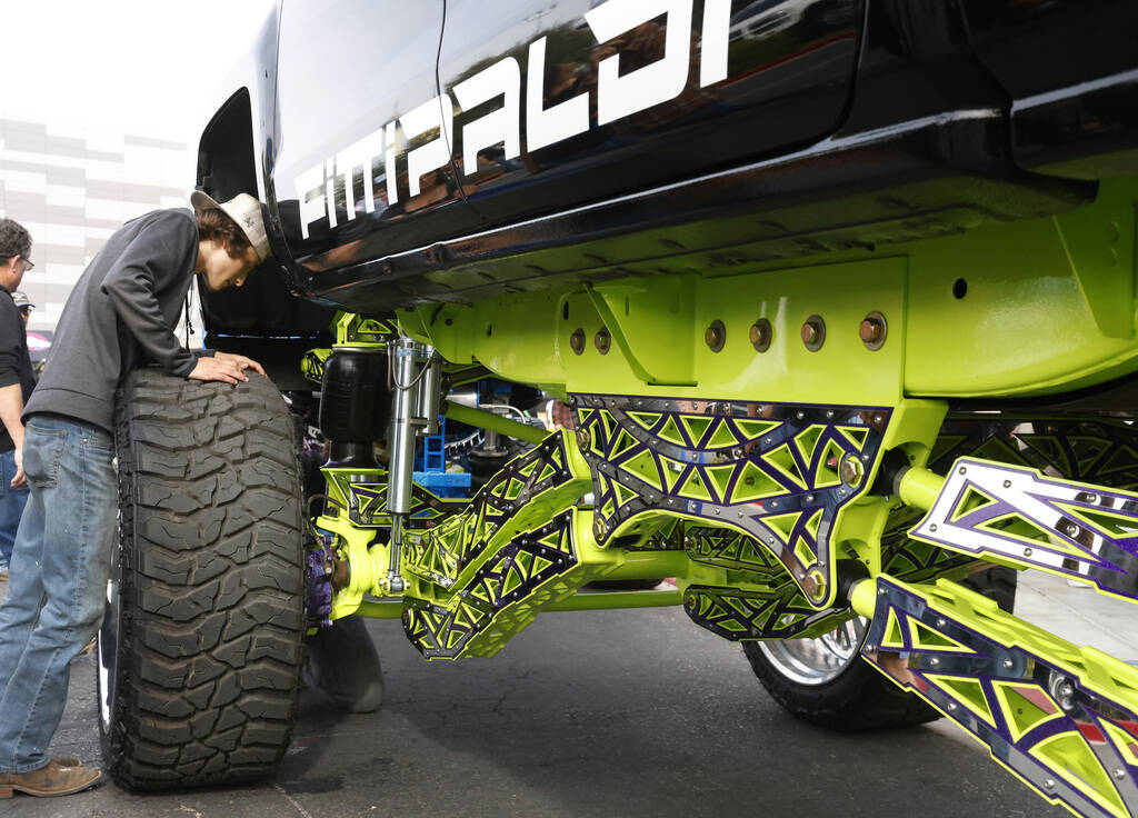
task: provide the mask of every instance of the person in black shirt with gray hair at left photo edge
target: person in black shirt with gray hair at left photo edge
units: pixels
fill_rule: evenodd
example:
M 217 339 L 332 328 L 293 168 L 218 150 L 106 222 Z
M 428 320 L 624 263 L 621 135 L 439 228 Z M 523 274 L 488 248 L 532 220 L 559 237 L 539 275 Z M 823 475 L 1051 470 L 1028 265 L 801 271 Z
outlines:
M 27 354 L 25 319 L 11 294 L 32 268 L 32 237 L 10 218 L 0 220 L 0 578 L 6 578 L 19 518 L 27 503 L 20 415 L 35 387 Z

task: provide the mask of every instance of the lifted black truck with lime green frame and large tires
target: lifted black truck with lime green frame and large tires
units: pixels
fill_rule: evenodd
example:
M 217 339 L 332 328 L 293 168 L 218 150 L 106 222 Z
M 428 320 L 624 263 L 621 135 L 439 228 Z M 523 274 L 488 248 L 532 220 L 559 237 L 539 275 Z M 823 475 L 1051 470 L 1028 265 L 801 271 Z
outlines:
M 349 614 L 459 659 L 683 604 L 801 718 L 945 716 L 1133 815 L 1138 669 L 1011 603 L 1020 570 L 1138 601 L 1135 31 L 1132 0 L 283 2 L 197 179 L 261 198 L 274 258 L 201 295 L 211 346 L 322 380 L 323 485 L 267 381 L 126 385 L 115 777 L 271 771 L 302 637 Z M 489 380 L 571 428 L 447 400 Z M 529 447 L 436 496 L 439 414 Z

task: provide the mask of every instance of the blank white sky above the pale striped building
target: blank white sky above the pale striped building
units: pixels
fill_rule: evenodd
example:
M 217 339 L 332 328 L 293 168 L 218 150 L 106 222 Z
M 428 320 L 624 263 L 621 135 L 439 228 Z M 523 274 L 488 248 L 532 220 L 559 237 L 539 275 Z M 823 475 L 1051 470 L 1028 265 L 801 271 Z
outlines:
M 272 0 L 0 0 L 0 116 L 196 148 Z

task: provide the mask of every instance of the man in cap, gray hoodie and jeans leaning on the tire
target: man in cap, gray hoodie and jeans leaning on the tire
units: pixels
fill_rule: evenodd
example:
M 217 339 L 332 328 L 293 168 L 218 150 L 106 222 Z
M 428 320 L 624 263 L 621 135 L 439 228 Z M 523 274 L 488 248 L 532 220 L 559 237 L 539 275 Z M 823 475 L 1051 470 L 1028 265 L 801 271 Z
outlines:
M 117 534 L 115 390 L 154 363 L 201 381 L 264 374 L 241 355 L 196 354 L 174 334 L 195 274 L 240 287 L 270 254 L 261 204 L 241 193 L 195 212 L 155 210 L 108 239 L 72 291 L 43 375 L 24 407 L 30 496 L 0 605 L 0 798 L 66 795 L 102 774 L 52 759 L 68 662 L 98 630 Z

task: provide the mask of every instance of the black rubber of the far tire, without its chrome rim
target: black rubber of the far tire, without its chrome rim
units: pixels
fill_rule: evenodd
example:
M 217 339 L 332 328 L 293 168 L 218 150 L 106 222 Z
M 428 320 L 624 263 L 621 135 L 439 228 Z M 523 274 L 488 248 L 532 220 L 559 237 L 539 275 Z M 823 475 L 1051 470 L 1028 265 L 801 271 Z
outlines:
M 1012 612 L 1016 571 L 997 567 L 963 581 Z M 841 733 L 908 727 L 935 721 L 940 713 L 920 696 L 906 693 L 855 655 L 846 669 L 820 685 L 787 678 L 758 643 L 744 642 L 743 653 L 767 692 L 791 714 L 818 727 Z

